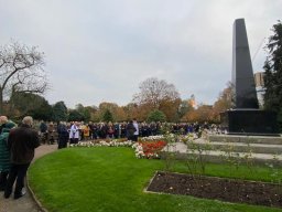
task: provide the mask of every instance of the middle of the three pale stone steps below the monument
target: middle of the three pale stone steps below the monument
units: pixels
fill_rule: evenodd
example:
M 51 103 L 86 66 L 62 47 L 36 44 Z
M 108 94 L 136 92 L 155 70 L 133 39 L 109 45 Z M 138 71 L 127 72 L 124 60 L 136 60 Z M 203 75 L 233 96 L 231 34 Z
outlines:
M 223 151 L 235 151 L 235 152 L 253 152 L 253 153 L 282 153 L 282 145 L 269 145 L 269 144 L 246 144 L 246 142 L 209 142 L 205 139 L 196 139 L 192 145 L 187 144 L 189 148 L 206 149 L 210 150 L 223 150 Z

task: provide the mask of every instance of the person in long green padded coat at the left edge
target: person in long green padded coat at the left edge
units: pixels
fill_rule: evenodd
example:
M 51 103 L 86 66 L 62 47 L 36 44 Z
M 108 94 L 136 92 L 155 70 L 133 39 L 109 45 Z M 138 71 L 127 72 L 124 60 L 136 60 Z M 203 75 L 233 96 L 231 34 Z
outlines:
M 15 127 L 12 121 L 2 124 L 2 132 L 0 135 L 0 191 L 4 191 L 8 173 L 11 167 L 10 152 L 7 145 L 7 139 L 11 128 Z

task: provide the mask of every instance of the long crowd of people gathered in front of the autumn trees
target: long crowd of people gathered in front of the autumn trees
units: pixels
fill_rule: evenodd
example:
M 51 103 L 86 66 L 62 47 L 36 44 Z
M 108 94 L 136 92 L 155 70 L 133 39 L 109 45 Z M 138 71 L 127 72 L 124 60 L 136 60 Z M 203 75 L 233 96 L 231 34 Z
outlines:
M 138 123 L 132 119 L 128 123 L 84 123 L 84 121 L 59 121 L 58 124 L 41 121 L 39 132 L 42 144 L 58 144 L 58 149 L 67 147 L 67 142 L 77 144 L 80 140 L 118 139 L 127 138 L 138 141 L 138 137 L 161 135 L 164 130 L 172 134 L 186 135 L 189 132 L 200 134 L 203 129 L 219 132 L 219 127 L 207 123 L 167 124 L 167 123 Z

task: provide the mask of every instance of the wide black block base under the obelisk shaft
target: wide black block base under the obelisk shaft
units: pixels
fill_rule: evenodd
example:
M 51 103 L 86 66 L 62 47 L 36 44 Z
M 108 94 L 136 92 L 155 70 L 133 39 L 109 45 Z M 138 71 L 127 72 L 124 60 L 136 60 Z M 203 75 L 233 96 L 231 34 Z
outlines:
M 221 126 L 231 135 L 280 136 L 276 114 L 260 109 L 234 109 L 220 114 Z

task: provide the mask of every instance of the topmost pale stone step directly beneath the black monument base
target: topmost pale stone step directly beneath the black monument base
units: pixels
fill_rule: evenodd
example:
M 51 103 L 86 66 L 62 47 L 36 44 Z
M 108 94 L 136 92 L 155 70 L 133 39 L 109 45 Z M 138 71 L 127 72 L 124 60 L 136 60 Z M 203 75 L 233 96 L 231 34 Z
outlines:
M 282 137 L 271 136 L 238 136 L 238 135 L 213 135 L 207 134 L 207 139 L 210 142 L 246 142 L 246 144 L 268 144 L 282 145 Z

